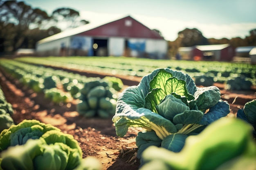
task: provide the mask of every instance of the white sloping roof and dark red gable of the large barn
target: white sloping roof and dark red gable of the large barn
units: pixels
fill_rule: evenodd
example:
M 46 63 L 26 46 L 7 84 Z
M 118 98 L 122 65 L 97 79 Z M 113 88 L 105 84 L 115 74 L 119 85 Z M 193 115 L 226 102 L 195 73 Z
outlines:
M 149 29 L 141 22 L 131 16 L 108 22 L 95 24 L 85 24 L 74 29 L 63 31 L 38 41 L 38 44 L 58 40 L 72 35 L 87 35 L 93 37 L 125 37 L 125 38 L 150 38 L 164 39 L 159 33 Z

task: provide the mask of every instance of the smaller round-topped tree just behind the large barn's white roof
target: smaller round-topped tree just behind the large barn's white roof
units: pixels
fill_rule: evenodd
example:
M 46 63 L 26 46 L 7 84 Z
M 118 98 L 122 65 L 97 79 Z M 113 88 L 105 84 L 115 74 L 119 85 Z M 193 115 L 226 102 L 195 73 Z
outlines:
M 54 10 L 52 18 L 62 30 L 76 28 L 89 23 L 87 20 L 82 20 L 79 12 L 71 8 L 58 8 Z

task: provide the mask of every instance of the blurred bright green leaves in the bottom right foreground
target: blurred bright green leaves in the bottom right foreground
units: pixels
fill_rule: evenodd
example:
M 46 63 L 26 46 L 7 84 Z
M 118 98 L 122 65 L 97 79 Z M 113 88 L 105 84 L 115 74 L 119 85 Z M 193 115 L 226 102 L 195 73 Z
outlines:
M 218 167 L 224 170 L 244 162 L 247 165 L 244 164 L 242 169 L 253 169 L 256 143 L 249 124 L 225 117 L 207 126 L 200 134 L 187 137 L 180 152 L 150 146 L 142 157 L 146 163 L 140 170 L 216 170 Z M 156 162 L 161 168 L 152 166 Z

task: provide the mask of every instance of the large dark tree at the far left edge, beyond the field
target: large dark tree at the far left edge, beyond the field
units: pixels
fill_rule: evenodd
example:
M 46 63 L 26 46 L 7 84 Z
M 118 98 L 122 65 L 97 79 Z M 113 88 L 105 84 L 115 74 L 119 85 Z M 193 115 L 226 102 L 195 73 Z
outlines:
M 19 49 L 29 33 L 30 28 L 40 27 L 50 17 L 41 9 L 32 9 L 24 2 L 4 1 L 0 4 L 0 22 L 2 29 L 1 38 L 5 39 L 4 51 L 16 51 Z M 12 33 L 10 33 L 12 31 Z M 8 33 L 8 34 L 5 34 Z M 6 42 L 8 42 L 6 44 Z M 0 45 L 1 46 L 1 45 Z

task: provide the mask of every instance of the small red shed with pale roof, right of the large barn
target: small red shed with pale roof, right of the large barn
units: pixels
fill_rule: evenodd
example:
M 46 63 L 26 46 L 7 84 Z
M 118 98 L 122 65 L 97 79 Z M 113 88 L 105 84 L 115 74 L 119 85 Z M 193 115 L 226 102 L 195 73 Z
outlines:
M 234 47 L 229 44 L 180 47 L 178 51 L 184 60 L 231 61 L 234 56 Z

